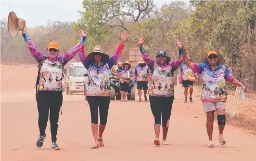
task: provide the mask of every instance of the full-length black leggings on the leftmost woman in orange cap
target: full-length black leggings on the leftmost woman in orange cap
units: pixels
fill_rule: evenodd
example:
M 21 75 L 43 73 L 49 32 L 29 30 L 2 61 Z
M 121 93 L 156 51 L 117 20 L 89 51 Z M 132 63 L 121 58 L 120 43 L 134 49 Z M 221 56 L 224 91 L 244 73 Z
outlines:
M 38 125 L 40 135 L 45 134 L 50 110 L 50 132 L 52 133 L 52 141 L 56 142 L 59 111 L 63 101 L 62 91 L 38 91 L 36 100 L 39 112 Z

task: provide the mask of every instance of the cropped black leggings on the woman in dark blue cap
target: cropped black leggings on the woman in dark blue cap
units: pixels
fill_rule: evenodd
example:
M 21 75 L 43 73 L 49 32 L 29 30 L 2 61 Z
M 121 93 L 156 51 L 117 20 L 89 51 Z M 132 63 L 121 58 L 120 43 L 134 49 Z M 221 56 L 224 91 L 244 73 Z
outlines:
M 150 107 L 155 119 L 155 124 L 161 124 L 161 116 L 162 116 L 162 126 L 169 127 L 169 120 L 172 112 L 173 99 L 174 99 L 174 96 L 171 96 L 171 97 L 149 96 Z

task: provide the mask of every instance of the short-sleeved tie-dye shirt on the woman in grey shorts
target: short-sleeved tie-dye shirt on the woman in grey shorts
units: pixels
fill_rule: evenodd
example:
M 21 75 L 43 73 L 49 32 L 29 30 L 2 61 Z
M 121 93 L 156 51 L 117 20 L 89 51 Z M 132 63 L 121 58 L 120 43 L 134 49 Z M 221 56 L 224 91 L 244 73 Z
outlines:
M 202 75 L 202 101 L 225 102 L 227 100 L 225 80 L 232 81 L 234 79 L 227 67 L 217 65 L 213 70 L 208 63 L 195 63 L 194 71 Z

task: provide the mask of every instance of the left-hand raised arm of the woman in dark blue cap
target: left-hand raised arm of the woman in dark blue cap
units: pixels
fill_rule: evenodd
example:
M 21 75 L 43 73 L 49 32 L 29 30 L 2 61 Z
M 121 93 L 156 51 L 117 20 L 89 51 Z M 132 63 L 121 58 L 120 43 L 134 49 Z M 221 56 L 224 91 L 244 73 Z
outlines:
M 156 61 L 153 60 L 151 57 L 149 57 L 147 51 L 143 47 L 144 42 L 145 42 L 145 35 L 142 34 L 139 36 L 139 40 L 138 40 L 139 51 L 142 54 L 144 62 L 147 64 L 147 66 L 150 69 L 152 69 Z

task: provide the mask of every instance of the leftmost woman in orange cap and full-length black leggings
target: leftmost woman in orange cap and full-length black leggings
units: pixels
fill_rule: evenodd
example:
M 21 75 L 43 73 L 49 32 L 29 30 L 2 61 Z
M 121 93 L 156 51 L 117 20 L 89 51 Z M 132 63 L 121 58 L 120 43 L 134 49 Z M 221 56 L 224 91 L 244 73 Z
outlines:
M 22 36 L 25 44 L 29 48 L 31 55 L 39 63 L 39 82 L 38 92 L 36 92 L 37 108 L 39 112 L 39 139 L 36 146 L 41 148 L 46 137 L 45 129 L 50 118 L 50 131 L 52 133 L 51 150 L 60 150 L 57 141 L 57 130 L 59 125 L 59 111 L 62 106 L 62 83 L 60 78 L 63 78 L 63 66 L 65 66 L 79 51 L 80 47 L 86 40 L 86 34 L 83 30 L 81 32 L 81 40 L 66 54 L 61 56 L 59 54 L 59 45 L 57 42 L 49 42 L 47 46 L 47 54 L 42 54 L 29 38 L 27 27 L 22 30 Z M 51 78 L 52 77 L 52 78 Z M 50 111 L 50 116 L 49 116 Z

